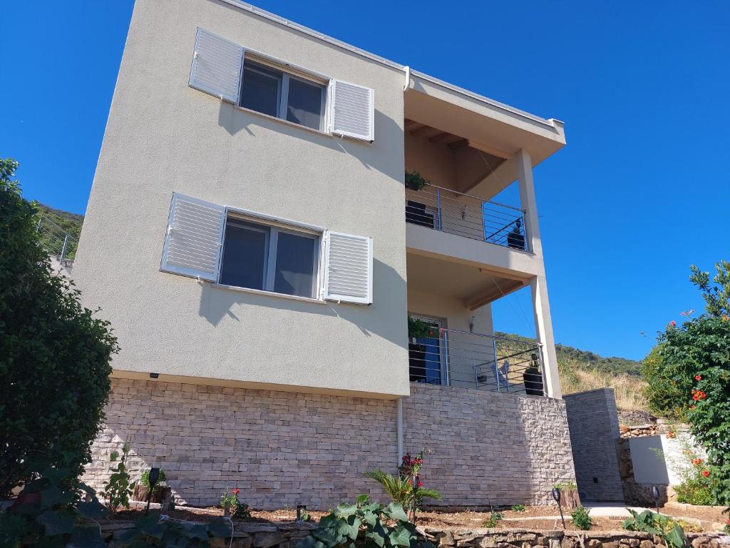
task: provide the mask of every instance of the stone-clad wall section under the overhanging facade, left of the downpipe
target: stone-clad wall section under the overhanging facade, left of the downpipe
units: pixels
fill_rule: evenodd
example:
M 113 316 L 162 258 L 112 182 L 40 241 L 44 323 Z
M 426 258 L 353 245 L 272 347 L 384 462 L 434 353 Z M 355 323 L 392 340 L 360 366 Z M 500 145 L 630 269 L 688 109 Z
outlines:
M 82 479 L 101 487 L 127 441 L 132 469 L 160 466 L 183 503 L 216 504 L 238 487 L 254 508 L 326 509 L 369 490 L 366 469 L 396 461 L 395 414 L 393 400 L 115 378 Z

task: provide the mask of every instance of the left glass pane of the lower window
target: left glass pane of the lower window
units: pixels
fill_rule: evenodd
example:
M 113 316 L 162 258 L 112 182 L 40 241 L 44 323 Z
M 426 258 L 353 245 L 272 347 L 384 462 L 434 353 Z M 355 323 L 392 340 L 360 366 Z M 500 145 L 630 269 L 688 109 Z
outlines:
M 264 289 L 269 229 L 239 221 L 226 224 L 220 283 Z

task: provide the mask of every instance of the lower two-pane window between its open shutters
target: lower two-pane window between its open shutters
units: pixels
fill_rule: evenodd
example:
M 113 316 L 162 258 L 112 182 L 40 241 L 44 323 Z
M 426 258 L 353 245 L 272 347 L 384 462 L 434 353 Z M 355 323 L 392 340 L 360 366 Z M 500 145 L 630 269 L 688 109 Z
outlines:
M 228 216 L 219 283 L 317 297 L 319 235 Z

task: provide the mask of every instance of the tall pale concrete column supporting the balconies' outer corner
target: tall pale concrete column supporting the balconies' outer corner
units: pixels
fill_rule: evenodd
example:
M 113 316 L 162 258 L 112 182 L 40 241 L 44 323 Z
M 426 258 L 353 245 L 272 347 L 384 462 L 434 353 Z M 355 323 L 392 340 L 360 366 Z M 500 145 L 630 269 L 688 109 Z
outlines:
M 537 200 L 532 178 L 532 161 L 527 151 L 519 151 L 515 155 L 517 161 L 518 184 L 520 187 L 521 207 L 525 210 L 525 235 L 528 251 L 539 259 L 539 273 L 530 281 L 532 293 L 532 311 L 535 319 L 537 339 L 542 343 L 542 368 L 550 397 L 561 398 L 563 392 L 558 377 L 558 358 L 555 352 L 553 337 L 553 321 L 550 318 L 550 300 L 548 299 L 548 281 L 545 278 L 545 263 L 542 257 L 542 240 L 537 219 Z

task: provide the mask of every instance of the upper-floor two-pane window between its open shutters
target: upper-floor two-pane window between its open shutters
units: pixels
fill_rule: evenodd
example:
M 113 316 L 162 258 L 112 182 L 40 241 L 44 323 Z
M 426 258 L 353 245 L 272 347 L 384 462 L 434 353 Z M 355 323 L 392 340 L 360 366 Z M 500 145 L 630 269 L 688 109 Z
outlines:
M 244 59 L 242 107 L 321 130 L 325 91 L 323 84 Z

